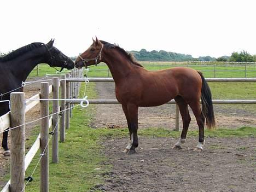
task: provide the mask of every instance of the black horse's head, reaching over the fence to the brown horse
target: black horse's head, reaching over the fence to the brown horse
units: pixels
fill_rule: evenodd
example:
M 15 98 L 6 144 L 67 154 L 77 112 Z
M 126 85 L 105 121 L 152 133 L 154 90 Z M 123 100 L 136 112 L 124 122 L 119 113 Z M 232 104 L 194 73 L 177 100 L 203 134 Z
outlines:
M 61 53 L 61 51 L 55 46 L 53 46 L 54 40 L 50 40 L 49 43 L 45 44 L 46 49 L 49 53 L 49 65 L 51 67 L 61 67 L 61 71 L 63 68 L 66 69 L 73 69 L 74 68 L 74 62 L 66 55 Z

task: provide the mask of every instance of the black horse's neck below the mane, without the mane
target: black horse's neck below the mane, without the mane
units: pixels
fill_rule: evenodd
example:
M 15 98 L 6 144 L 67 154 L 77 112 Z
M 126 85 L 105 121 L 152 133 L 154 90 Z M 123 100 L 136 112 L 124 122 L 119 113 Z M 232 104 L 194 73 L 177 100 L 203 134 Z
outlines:
M 25 82 L 30 72 L 38 63 L 45 63 L 43 55 L 32 55 L 31 53 L 26 53 L 21 55 L 11 61 L 8 61 L 6 65 L 8 66 L 11 73 L 19 79 L 20 81 Z

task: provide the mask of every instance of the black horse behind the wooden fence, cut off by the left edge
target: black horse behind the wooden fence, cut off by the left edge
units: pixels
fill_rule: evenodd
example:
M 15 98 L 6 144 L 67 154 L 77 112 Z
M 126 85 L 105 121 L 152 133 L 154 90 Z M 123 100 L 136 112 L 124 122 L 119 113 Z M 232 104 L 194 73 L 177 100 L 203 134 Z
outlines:
M 23 46 L 4 57 L 0 57 L 0 101 L 10 100 L 11 91 L 23 91 L 21 83 L 25 82 L 28 74 L 38 63 L 48 63 L 51 67 L 72 69 L 74 62 L 49 43 L 31 43 Z M 8 102 L 0 102 L 0 116 L 9 111 Z M 7 138 L 8 130 L 3 132 L 2 147 L 4 156 L 9 156 Z

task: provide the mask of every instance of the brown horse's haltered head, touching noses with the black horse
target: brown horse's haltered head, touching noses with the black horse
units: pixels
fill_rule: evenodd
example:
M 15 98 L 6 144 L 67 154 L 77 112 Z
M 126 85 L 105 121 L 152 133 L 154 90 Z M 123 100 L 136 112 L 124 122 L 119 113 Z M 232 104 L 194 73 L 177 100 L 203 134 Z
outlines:
M 87 68 L 90 65 L 96 65 L 101 62 L 101 52 L 103 49 L 103 43 L 100 42 L 100 40 L 92 39 L 94 42 L 91 44 L 91 46 L 84 51 L 81 55 L 77 57 L 77 60 L 75 60 L 75 67 Z

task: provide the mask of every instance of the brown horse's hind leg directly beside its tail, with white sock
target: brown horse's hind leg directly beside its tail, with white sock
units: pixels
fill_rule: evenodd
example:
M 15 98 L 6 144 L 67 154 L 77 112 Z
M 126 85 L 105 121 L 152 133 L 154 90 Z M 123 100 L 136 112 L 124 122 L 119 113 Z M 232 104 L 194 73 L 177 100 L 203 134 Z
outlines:
M 205 139 L 204 139 L 205 117 L 203 117 L 199 101 L 191 102 L 189 103 L 189 106 L 193 110 L 193 113 L 196 118 L 196 123 L 199 127 L 199 143 L 197 144 L 194 150 L 202 151 L 203 150 L 202 146 L 203 144 L 205 144 Z

